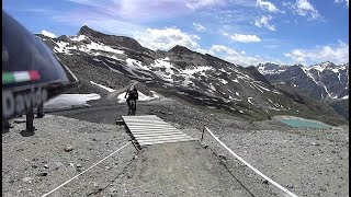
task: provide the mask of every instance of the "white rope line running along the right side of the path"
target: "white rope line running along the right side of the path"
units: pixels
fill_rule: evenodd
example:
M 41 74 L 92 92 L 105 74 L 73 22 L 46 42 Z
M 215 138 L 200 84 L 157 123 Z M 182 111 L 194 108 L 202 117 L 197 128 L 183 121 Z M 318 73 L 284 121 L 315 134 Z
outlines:
M 268 177 L 267 175 L 264 175 L 263 173 L 261 173 L 259 170 L 254 169 L 252 165 L 250 165 L 248 162 L 246 162 L 244 159 L 241 159 L 238 154 L 236 154 L 233 150 L 230 150 L 225 143 L 223 143 L 207 127 L 204 127 L 205 130 L 207 130 L 207 132 L 219 143 L 222 144 L 222 147 L 224 147 L 227 151 L 229 151 L 236 159 L 238 159 L 239 161 L 241 161 L 245 165 L 247 165 L 248 167 L 250 167 L 253 172 L 256 172 L 257 174 L 259 174 L 261 177 L 263 177 L 264 179 L 267 179 L 268 182 L 270 182 L 271 184 L 273 184 L 274 186 L 276 186 L 278 188 L 280 188 L 281 190 L 283 190 L 284 193 L 288 194 L 292 197 L 297 197 L 297 195 L 293 194 L 292 192 L 287 190 L 285 187 L 281 186 L 280 184 L 278 184 L 276 182 L 274 182 L 273 179 L 271 179 L 270 177 Z

